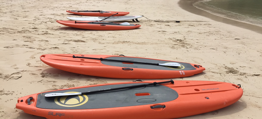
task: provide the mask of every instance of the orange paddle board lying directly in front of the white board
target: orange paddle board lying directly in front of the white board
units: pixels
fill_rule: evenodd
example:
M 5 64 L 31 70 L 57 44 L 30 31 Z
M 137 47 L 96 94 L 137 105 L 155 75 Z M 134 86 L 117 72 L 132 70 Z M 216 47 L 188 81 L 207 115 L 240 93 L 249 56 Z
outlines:
M 57 20 L 57 23 L 63 24 L 65 26 L 70 26 L 70 27 L 79 28 L 79 29 L 89 29 L 89 30 L 129 30 L 129 29 L 135 29 L 141 26 L 139 24 L 130 24 L 130 25 L 119 25 L 121 23 L 106 24 L 106 22 L 101 22 L 101 24 L 92 24 L 92 23 L 89 24 L 88 23 L 92 21 L 78 21 L 78 22 L 87 22 L 87 23 L 75 23 L 75 21 Z

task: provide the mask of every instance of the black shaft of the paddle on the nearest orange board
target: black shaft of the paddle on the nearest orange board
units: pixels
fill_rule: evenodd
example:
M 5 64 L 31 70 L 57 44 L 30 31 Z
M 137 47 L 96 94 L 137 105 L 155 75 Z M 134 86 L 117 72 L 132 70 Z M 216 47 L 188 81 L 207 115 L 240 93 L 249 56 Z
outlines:
M 154 83 L 146 83 L 146 84 L 125 86 L 125 87 L 107 88 L 107 89 L 101 89 L 101 90 L 95 90 L 95 91 L 88 91 L 88 92 L 83 92 L 82 95 L 91 94 L 91 93 L 100 93 L 100 92 L 106 92 L 106 91 L 112 91 L 112 90 L 121 90 L 121 89 L 127 89 L 127 88 L 143 87 L 143 86 L 156 85 L 156 84 L 164 84 L 164 83 L 170 83 L 170 82 L 174 84 L 174 81 L 171 79 L 170 81 L 165 81 L 165 82 L 154 82 Z

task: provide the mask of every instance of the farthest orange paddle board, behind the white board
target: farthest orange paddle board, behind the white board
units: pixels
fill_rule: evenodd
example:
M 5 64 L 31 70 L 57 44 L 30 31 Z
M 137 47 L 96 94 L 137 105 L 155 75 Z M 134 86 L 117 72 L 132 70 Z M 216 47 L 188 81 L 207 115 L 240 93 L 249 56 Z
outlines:
M 114 12 L 114 11 L 107 11 L 107 12 L 77 12 L 72 10 L 66 10 L 66 12 L 77 14 L 77 15 L 84 15 L 84 16 L 100 16 L 100 17 L 109 17 L 111 15 L 114 16 L 124 16 L 129 14 L 129 12 Z

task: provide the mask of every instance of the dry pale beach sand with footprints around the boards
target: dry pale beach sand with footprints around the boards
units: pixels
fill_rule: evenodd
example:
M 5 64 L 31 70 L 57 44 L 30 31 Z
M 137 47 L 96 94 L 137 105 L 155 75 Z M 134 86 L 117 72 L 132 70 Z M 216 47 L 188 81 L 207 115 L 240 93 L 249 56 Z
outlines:
M 262 34 L 214 21 L 179 7 L 179 0 L 10 0 L 0 4 L 0 118 L 44 119 L 16 109 L 19 97 L 91 84 L 129 82 L 52 68 L 42 54 L 109 54 L 200 64 L 203 73 L 173 80 L 205 80 L 241 84 L 235 104 L 183 119 L 257 119 L 262 110 Z M 66 10 L 129 11 L 144 15 L 133 30 L 92 31 L 71 28 L 56 20 L 78 17 Z M 160 79 L 169 80 L 169 79 Z

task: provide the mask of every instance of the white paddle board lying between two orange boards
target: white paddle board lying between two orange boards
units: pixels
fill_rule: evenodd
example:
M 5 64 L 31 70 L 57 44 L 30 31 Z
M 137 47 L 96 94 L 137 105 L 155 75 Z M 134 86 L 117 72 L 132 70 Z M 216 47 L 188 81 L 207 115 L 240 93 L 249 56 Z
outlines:
M 137 19 L 141 18 L 142 16 L 117 16 L 117 17 L 67 17 L 70 20 L 73 21 L 101 21 L 102 19 L 103 22 L 116 22 L 116 21 L 126 21 L 126 20 L 132 20 L 132 19 Z

